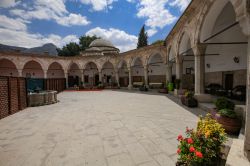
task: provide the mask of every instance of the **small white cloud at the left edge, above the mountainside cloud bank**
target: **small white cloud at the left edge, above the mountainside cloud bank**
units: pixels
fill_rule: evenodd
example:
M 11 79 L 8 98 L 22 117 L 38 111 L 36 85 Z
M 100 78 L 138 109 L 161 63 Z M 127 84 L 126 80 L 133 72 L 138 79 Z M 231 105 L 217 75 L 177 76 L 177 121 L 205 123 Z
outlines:
M 0 20 L 0 27 L 2 28 L 9 28 L 17 31 L 24 31 L 27 29 L 26 24 L 21 19 L 13 19 L 4 15 L 0 15 Z

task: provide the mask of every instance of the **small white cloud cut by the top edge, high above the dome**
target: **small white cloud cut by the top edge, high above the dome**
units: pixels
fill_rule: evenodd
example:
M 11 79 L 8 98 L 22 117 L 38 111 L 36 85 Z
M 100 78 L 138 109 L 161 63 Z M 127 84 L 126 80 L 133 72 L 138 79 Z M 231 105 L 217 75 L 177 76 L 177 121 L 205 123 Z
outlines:
M 117 0 L 80 0 L 81 3 L 86 5 L 92 5 L 93 10 L 102 11 L 107 8 L 112 8 L 112 3 Z

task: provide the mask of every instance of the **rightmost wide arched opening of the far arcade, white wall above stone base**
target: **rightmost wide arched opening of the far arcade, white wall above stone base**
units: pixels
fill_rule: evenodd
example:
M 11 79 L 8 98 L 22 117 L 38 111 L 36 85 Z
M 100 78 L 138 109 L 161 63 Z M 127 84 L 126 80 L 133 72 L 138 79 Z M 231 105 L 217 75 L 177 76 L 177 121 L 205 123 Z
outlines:
M 166 65 L 160 54 L 151 55 L 148 60 L 148 80 L 150 88 L 161 88 L 166 83 Z

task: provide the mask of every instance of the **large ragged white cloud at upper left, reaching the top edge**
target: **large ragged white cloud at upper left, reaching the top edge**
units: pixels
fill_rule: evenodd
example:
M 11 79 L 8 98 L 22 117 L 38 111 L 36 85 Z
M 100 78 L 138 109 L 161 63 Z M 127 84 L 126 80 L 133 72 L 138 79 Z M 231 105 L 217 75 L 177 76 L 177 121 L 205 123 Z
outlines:
M 33 8 L 12 9 L 10 13 L 25 20 L 55 20 L 63 26 L 90 23 L 85 16 L 68 12 L 64 0 L 35 0 Z

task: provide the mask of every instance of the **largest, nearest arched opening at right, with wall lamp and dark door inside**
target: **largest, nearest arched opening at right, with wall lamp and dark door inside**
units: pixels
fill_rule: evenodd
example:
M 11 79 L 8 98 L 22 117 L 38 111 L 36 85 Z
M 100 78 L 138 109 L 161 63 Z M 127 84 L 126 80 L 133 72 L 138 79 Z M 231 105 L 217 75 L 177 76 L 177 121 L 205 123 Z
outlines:
M 245 96 L 239 99 L 245 100 L 248 42 L 229 0 L 214 2 L 201 27 L 200 43 L 206 45 L 205 91 L 235 98 L 228 92 L 243 88 Z M 220 92 L 210 91 L 212 85 L 217 85 Z

